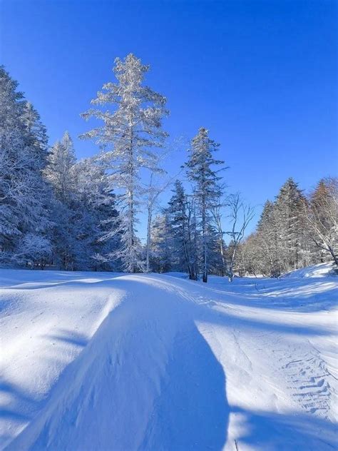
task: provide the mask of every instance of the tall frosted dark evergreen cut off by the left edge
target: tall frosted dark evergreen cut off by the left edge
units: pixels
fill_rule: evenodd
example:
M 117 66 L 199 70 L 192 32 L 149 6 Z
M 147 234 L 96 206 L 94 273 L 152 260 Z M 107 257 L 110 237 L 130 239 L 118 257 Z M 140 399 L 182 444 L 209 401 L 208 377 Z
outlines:
M 39 114 L 17 86 L 0 67 L 0 260 L 39 265 L 41 253 L 48 253 L 51 226 L 50 191 L 41 174 L 47 138 Z M 30 240 L 36 243 L 36 258 Z M 30 248 L 29 255 L 24 248 Z

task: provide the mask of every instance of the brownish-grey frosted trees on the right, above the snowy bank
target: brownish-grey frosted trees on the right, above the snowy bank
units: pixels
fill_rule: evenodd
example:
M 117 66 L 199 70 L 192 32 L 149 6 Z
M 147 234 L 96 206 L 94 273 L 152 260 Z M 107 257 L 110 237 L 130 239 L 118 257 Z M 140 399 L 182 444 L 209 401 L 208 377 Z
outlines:
M 277 277 L 329 260 L 338 265 L 338 179 L 323 178 L 304 196 L 289 178 L 240 245 L 237 270 Z

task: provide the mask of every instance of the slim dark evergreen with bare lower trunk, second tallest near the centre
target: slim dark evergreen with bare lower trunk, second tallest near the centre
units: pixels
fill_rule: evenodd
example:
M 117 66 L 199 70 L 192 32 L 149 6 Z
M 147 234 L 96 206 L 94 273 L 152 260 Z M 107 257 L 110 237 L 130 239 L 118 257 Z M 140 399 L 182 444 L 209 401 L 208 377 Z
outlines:
M 210 234 L 211 218 L 210 209 L 219 196 L 217 182 L 220 177 L 213 166 L 223 163 L 215 160 L 212 153 L 217 150 L 219 144 L 209 138 L 208 130 L 200 128 L 193 138 L 189 149 L 187 162 L 188 178 L 193 183 L 194 197 L 198 208 L 201 228 L 202 255 L 203 255 L 203 282 L 208 282 L 208 239 Z

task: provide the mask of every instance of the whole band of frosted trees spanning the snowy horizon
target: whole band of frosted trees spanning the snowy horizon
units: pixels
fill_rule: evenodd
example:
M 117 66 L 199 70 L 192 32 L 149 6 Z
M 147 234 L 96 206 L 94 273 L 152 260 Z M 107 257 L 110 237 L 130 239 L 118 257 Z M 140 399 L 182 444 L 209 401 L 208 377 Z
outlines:
M 164 173 L 168 110 L 165 97 L 144 84 L 148 70 L 133 54 L 116 59 L 116 83 L 106 83 L 82 114 L 96 127 L 80 138 L 95 141 L 99 153 L 76 161 L 67 132 L 48 147 L 39 114 L 0 68 L 0 264 L 180 270 L 207 282 L 210 273 L 279 275 L 324 255 L 337 263 L 337 180 L 321 181 L 305 198 L 290 179 L 244 240 L 253 210 L 238 194 L 225 196 L 224 163 L 214 157 L 219 145 L 206 128 L 190 143 L 168 206 L 153 218 L 170 184 L 153 183 Z M 145 208 L 143 244 L 137 226 Z

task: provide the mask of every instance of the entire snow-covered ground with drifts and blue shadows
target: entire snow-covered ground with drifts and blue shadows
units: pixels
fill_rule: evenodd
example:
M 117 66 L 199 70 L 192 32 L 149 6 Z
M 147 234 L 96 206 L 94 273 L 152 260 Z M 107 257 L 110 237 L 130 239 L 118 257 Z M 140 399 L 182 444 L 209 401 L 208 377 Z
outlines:
M 322 269 L 208 285 L 0 270 L 1 449 L 337 449 Z

